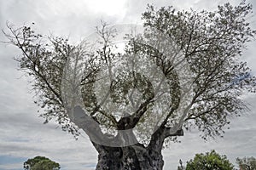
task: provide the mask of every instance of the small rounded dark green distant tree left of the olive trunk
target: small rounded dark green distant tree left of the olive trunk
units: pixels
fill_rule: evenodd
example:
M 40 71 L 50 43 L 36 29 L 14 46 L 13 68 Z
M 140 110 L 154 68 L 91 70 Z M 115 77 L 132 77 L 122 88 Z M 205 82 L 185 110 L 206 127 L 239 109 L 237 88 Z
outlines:
M 44 156 L 36 156 L 24 162 L 25 170 L 59 170 L 61 166 L 55 161 Z

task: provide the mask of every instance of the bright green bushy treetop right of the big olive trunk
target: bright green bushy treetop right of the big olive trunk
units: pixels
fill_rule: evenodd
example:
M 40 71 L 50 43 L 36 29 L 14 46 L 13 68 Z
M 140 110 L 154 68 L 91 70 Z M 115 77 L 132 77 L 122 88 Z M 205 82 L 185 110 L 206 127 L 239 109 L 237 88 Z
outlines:
M 233 165 L 226 156 L 220 156 L 215 150 L 206 154 L 196 154 L 187 162 L 186 170 L 233 170 Z

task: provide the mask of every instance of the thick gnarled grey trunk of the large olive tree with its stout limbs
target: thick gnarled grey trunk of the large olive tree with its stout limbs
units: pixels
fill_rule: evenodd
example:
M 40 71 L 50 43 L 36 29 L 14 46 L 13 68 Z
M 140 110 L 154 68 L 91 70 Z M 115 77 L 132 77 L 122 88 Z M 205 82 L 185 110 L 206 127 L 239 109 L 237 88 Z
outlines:
M 99 154 L 96 170 L 162 170 L 161 150 L 166 137 L 183 135 L 181 128 L 162 125 L 151 135 L 148 146 L 144 146 L 137 142 L 135 136 L 132 137 L 132 130 L 116 136 L 102 133 L 99 124 L 84 114 L 80 107 L 75 107 L 73 116 L 73 122 L 88 134 Z

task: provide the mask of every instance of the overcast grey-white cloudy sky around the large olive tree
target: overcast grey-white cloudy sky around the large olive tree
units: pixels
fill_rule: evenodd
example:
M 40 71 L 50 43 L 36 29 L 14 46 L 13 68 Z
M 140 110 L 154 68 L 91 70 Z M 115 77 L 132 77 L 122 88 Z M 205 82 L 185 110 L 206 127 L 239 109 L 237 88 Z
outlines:
M 100 20 L 116 24 L 140 24 L 141 14 L 147 3 L 155 6 L 174 6 L 177 9 L 213 10 L 224 0 L 0 0 L 0 27 L 6 29 L 6 21 L 16 25 L 34 22 L 38 32 L 70 37 L 72 42 L 87 37 L 95 31 Z M 239 1 L 229 1 L 238 4 Z M 250 2 L 250 1 L 247 1 Z M 255 13 L 249 19 L 256 29 Z M 211 4 L 211 5 L 209 5 Z M 0 33 L 0 40 L 4 41 Z M 247 60 L 256 74 L 256 42 L 247 44 L 243 59 Z M 79 140 L 61 131 L 55 122 L 44 125 L 38 117 L 37 105 L 33 104 L 31 87 L 13 57 L 20 51 L 0 43 L 0 170 L 22 169 L 22 164 L 34 156 L 47 156 L 61 164 L 61 169 L 94 169 L 97 153 L 86 134 Z M 223 139 L 203 141 L 196 131 L 186 132 L 180 144 L 170 144 L 163 151 L 165 170 L 177 169 L 178 160 L 188 161 L 195 153 L 217 150 L 235 162 L 237 156 L 256 157 L 256 95 L 244 96 L 251 111 L 233 118 L 230 130 Z

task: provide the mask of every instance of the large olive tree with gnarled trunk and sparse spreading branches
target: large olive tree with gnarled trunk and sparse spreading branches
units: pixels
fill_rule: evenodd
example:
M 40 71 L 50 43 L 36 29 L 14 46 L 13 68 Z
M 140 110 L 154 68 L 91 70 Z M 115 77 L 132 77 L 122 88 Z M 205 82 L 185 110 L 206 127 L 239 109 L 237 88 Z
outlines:
M 241 57 L 256 33 L 251 12 L 245 2 L 212 12 L 148 5 L 143 32 L 127 34 L 121 53 L 118 32 L 104 22 L 99 39 L 78 44 L 31 26 L 9 24 L 4 33 L 22 52 L 15 59 L 33 78 L 45 122 L 87 133 L 97 170 L 160 170 L 164 144 L 184 129 L 222 136 L 229 117 L 247 109 L 240 96 L 254 92 L 255 77 Z

